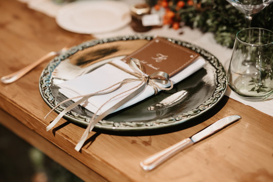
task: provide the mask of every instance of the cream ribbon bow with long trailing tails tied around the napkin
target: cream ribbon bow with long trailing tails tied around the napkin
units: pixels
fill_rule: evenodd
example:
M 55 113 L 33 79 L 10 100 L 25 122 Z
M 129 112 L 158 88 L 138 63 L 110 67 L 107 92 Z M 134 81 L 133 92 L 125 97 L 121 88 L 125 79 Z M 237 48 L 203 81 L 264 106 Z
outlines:
M 48 126 L 47 126 L 47 131 L 50 130 L 51 128 L 53 128 L 55 126 L 55 124 L 57 124 L 57 122 L 71 109 L 73 109 L 74 107 L 76 107 L 77 105 L 81 104 L 82 102 L 86 101 L 87 99 L 89 99 L 90 97 L 93 96 L 99 96 L 99 95 L 105 95 L 111 92 L 114 92 L 115 90 L 119 89 L 122 85 L 129 83 L 129 82 L 134 82 L 134 81 L 140 81 L 140 83 L 128 90 L 125 90 L 124 92 L 117 94 L 116 96 L 110 98 L 108 101 L 106 101 L 98 110 L 96 113 L 94 113 L 93 117 L 91 118 L 91 120 L 89 121 L 84 133 L 81 136 L 80 141 L 78 142 L 78 144 L 75 147 L 76 151 L 79 151 L 81 149 L 81 147 L 83 146 L 84 142 L 86 141 L 88 134 L 92 131 L 92 129 L 95 127 L 95 125 L 102 120 L 104 117 L 106 117 L 107 115 L 111 114 L 112 112 L 114 112 L 115 110 L 117 110 L 119 107 L 121 107 L 123 104 L 125 104 L 126 102 L 128 102 L 129 100 L 131 100 L 132 98 L 134 98 L 135 96 L 137 96 L 138 94 L 140 94 L 142 92 L 142 90 L 145 89 L 145 87 L 149 84 L 151 85 L 154 90 L 155 90 L 155 94 L 158 93 L 158 89 L 161 90 L 170 90 L 173 87 L 173 83 L 171 80 L 169 80 L 169 75 L 163 71 L 157 71 L 151 75 L 146 75 L 143 72 L 143 66 L 141 64 L 141 62 L 138 59 L 130 59 L 128 65 L 130 66 L 130 68 L 133 70 L 133 72 L 124 69 L 123 67 L 120 67 L 114 63 L 109 63 L 112 64 L 116 67 L 118 67 L 119 69 L 130 73 L 132 75 L 134 75 L 137 78 L 126 78 L 118 83 L 115 83 L 103 90 L 99 90 L 96 93 L 93 94 L 87 94 L 87 95 L 83 95 L 83 96 L 78 96 L 78 97 L 74 97 L 74 98 L 70 98 L 67 99 L 61 103 L 59 103 L 57 106 L 55 106 L 45 117 L 47 118 L 48 115 L 54 111 L 57 107 L 59 107 L 61 104 L 76 99 L 76 98 L 81 98 L 80 100 L 78 100 L 77 102 L 71 104 L 70 106 L 68 106 L 67 108 L 65 108 L 55 119 L 54 121 L 52 121 Z M 166 88 L 166 87 L 162 87 L 160 86 L 158 83 L 166 85 L 170 82 L 170 87 Z M 137 88 L 137 89 L 135 89 Z M 134 91 L 132 91 L 130 93 L 131 90 L 135 89 Z M 106 91 L 107 90 L 107 91 Z M 105 106 L 106 104 L 108 104 L 111 100 L 122 96 L 123 94 L 126 94 L 125 98 L 123 98 L 120 102 L 118 102 L 117 104 L 115 104 L 113 107 L 109 108 L 108 110 L 106 110 L 104 113 L 102 113 L 101 115 L 99 115 L 98 117 L 96 117 L 97 113 L 101 110 L 101 108 L 103 106 Z M 122 96 L 124 97 L 124 96 Z M 95 118 L 96 117 L 96 118 Z

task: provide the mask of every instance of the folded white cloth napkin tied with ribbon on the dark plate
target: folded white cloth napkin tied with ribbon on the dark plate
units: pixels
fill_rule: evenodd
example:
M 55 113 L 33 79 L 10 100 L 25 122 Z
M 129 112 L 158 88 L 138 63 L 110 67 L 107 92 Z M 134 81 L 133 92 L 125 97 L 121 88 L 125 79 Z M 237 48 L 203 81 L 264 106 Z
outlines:
M 112 62 L 119 66 L 122 66 L 125 69 L 132 71 L 131 68 L 121 60 L 114 60 Z M 194 62 L 192 62 L 185 69 L 181 70 L 179 73 L 170 77 L 170 80 L 172 80 L 173 84 L 175 84 L 185 79 L 186 77 L 190 76 L 194 72 L 198 71 L 200 68 L 204 66 L 204 64 L 205 64 L 205 60 L 202 57 L 198 57 Z M 75 79 L 71 79 L 63 83 L 60 83 L 59 92 L 65 95 L 67 98 L 73 98 L 73 97 L 77 97 L 81 95 L 92 94 L 92 93 L 98 92 L 99 90 L 105 89 L 119 81 L 122 81 L 125 78 L 136 78 L 136 77 L 120 70 L 119 68 L 111 64 L 105 64 L 90 73 L 87 73 L 85 75 L 76 77 Z M 86 109 L 88 109 L 89 111 L 96 113 L 98 108 L 100 108 L 110 98 L 118 94 L 121 94 L 125 90 L 133 88 L 139 83 L 140 83 L 139 81 L 127 83 L 112 93 L 101 95 L 101 96 L 93 96 L 88 99 L 88 102 L 85 102 L 81 105 L 85 107 Z M 170 85 L 166 85 L 165 87 L 168 87 L 168 86 Z M 129 93 L 133 92 L 133 90 L 131 90 Z M 127 96 L 127 94 L 129 93 L 122 94 L 118 96 L 117 98 L 115 98 L 114 100 L 112 100 L 111 102 L 107 103 L 105 106 L 102 107 L 100 111 L 98 111 L 97 114 L 101 114 L 105 112 L 106 110 L 114 106 L 116 103 L 118 103 L 120 100 L 122 100 L 124 98 L 122 96 Z M 152 95 L 154 95 L 154 89 L 152 86 L 148 85 L 143 90 L 143 92 L 135 96 L 129 102 L 125 103 L 116 111 L 119 111 L 128 106 L 131 106 L 135 103 L 138 103 Z M 79 99 L 73 99 L 74 102 L 78 100 Z

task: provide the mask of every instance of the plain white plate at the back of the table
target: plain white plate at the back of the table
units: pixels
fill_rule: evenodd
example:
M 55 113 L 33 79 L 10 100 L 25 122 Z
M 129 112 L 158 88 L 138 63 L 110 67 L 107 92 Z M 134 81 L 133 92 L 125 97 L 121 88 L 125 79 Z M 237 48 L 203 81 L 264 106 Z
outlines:
M 104 33 L 117 30 L 131 20 L 129 6 L 119 1 L 76 1 L 61 8 L 58 25 L 76 33 Z

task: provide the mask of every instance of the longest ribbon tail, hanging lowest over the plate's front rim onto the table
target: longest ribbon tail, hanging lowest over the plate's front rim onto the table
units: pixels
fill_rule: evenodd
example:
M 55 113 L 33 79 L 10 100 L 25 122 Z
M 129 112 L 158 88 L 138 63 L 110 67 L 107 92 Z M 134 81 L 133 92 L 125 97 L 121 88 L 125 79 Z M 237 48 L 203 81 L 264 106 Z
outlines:
M 142 90 L 147 85 L 147 82 L 148 82 L 148 80 L 146 80 L 144 82 L 144 84 L 142 84 L 138 89 L 134 90 L 134 92 L 132 92 L 131 94 L 129 94 L 128 96 L 126 96 L 124 99 L 122 99 L 120 102 L 118 102 L 113 107 L 109 108 L 104 113 L 102 113 L 101 115 L 99 115 L 96 119 L 92 118 L 91 121 L 89 122 L 88 126 L 86 127 L 84 133 L 82 134 L 80 141 L 77 143 L 77 145 L 75 147 L 75 150 L 79 152 L 79 150 L 82 148 L 84 142 L 86 141 L 86 139 L 88 137 L 88 134 L 92 131 L 92 129 L 95 127 L 95 125 L 100 120 L 102 120 L 104 117 L 106 117 L 107 115 L 111 114 L 115 110 L 117 110 L 119 107 L 121 107 L 123 104 L 125 104 L 126 102 L 128 102 L 129 100 L 131 100 L 132 98 L 134 98 L 139 93 L 141 93 Z

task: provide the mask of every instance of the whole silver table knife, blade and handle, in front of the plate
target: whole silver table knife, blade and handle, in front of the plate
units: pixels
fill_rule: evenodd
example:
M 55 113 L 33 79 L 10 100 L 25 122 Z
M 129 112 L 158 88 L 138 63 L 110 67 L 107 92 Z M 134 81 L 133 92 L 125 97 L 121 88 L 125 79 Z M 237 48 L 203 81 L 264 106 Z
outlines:
M 190 138 L 184 139 L 181 142 L 178 142 L 174 144 L 173 146 L 168 147 L 167 149 L 164 149 L 144 161 L 140 163 L 141 167 L 144 170 L 152 170 L 174 154 L 178 153 L 181 150 L 184 150 L 193 144 L 207 138 L 208 136 L 216 133 L 217 131 L 223 129 L 224 127 L 234 123 L 235 121 L 238 121 L 241 119 L 241 116 L 238 115 L 232 115 L 229 117 L 222 118 L 213 124 L 207 126 L 205 129 L 199 131 L 198 133 L 194 134 Z

